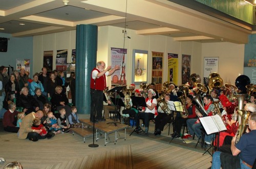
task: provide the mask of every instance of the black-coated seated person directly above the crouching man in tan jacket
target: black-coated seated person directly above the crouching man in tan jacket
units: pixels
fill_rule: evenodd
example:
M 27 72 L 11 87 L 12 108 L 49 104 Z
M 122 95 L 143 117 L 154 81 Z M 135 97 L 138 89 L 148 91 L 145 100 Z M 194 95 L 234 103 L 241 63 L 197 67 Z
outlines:
M 25 112 L 26 115 L 30 114 L 32 111 L 39 110 L 38 102 L 35 98 L 29 95 L 29 90 L 26 87 L 22 88 L 22 94 L 17 99 L 16 105 L 18 107 L 23 107 L 23 112 Z

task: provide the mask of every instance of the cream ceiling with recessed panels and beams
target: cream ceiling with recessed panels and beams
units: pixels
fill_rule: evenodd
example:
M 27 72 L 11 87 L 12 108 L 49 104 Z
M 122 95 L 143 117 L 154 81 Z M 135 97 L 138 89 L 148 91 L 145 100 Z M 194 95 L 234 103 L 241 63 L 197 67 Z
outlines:
M 0 29 L 4 29 L 0 33 L 13 37 L 75 30 L 77 24 L 125 27 L 176 41 L 243 44 L 252 33 L 166 0 L 70 0 L 68 6 L 62 0 L 0 0 L 0 4 Z

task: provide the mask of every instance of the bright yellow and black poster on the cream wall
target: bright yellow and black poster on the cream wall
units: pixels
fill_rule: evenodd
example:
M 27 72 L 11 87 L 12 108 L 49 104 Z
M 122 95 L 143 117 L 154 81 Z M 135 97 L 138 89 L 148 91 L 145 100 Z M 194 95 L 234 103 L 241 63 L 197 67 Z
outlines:
M 178 84 L 179 61 L 178 54 L 168 53 L 168 81 Z

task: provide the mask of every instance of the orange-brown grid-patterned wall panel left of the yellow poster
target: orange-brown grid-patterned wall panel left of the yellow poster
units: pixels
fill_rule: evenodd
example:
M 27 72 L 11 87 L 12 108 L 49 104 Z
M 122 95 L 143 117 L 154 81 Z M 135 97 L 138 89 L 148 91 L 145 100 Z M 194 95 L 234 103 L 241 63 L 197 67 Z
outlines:
M 152 82 L 155 90 L 161 92 L 163 80 L 163 52 L 152 52 Z

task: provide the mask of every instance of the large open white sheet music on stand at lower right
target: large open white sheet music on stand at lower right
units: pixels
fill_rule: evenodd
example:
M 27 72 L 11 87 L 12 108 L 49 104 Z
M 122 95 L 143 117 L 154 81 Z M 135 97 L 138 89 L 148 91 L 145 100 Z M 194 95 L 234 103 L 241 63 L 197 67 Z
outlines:
M 199 118 L 207 134 L 217 133 L 227 130 L 219 115 Z

